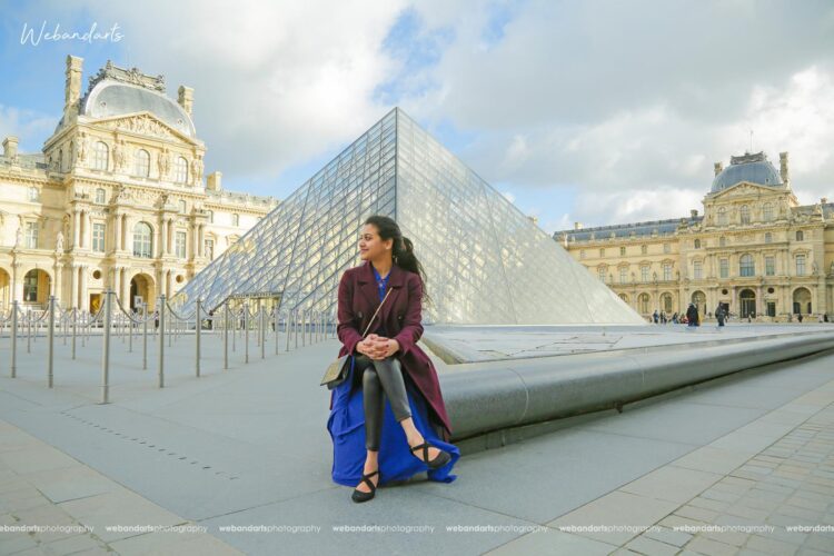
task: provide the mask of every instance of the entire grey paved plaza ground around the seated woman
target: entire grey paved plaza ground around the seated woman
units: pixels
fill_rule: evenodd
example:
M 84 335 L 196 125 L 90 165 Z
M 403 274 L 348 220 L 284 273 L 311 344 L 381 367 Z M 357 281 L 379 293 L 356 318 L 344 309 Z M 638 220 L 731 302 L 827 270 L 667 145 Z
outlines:
M 238 337 L 224 370 L 207 334 L 198 378 L 181 336 L 161 389 L 157 341 L 142 369 L 141 341 L 113 338 L 99 404 L 100 337 L 75 361 L 56 340 L 51 389 L 46 338 L 21 340 L 14 379 L 0 338 L 0 527 L 41 526 L 0 533 L 0 554 L 834 553 L 831 351 L 564 419 L 464 453 L 454 483 L 417 477 L 357 505 L 330 480 L 318 386 L 338 340 L 284 353 L 280 335 L 276 355 L 270 337 L 261 359 L 252 336 L 246 364 Z M 443 385 L 455 365 L 435 363 Z

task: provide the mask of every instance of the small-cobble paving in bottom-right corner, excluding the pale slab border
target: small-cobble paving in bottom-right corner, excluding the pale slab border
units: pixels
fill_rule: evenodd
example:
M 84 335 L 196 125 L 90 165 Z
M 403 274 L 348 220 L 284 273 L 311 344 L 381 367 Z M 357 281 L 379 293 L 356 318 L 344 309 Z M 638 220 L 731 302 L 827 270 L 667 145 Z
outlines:
M 834 404 L 657 525 L 614 554 L 834 554 Z M 679 530 L 687 525 L 702 530 Z M 703 530 L 709 525 L 763 530 Z

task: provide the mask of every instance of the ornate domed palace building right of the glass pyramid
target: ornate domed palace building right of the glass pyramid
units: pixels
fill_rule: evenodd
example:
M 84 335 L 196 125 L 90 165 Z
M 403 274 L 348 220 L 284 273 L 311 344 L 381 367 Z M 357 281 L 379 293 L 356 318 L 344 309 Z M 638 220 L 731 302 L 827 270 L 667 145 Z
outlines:
M 644 316 L 702 315 L 723 304 L 758 320 L 834 314 L 834 203 L 802 206 L 787 152 L 780 171 L 764 152 L 715 163 L 704 215 L 557 231 L 577 260 Z

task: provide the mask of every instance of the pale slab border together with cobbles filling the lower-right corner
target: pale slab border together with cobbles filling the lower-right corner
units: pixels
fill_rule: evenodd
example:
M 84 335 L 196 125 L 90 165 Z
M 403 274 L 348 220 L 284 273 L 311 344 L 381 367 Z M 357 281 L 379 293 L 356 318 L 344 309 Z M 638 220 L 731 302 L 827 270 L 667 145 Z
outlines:
M 546 525 L 488 554 L 834 554 L 834 380 Z

